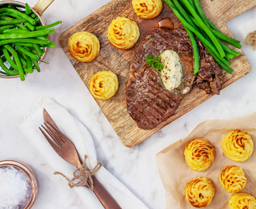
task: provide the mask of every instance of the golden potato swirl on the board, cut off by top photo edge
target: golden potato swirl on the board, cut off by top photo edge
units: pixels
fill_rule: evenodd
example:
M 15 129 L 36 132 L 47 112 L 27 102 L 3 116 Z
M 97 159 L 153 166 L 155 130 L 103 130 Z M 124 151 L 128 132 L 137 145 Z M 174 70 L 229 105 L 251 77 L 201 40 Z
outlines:
M 153 19 L 157 17 L 162 9 L 161 0 L 133 0 L 133 10 L 141 19 Z

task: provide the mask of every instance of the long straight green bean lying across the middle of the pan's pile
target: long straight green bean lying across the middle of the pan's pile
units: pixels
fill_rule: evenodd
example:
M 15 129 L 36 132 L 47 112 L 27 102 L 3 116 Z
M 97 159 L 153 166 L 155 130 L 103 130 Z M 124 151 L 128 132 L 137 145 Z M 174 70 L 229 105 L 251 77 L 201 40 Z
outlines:
M 5 33 L 0 34 L 0 39 L 24 39 L 36 36 L 44 36 L 49 33 L 54 33 L 54 29 L 36 30 L 28 33 Z

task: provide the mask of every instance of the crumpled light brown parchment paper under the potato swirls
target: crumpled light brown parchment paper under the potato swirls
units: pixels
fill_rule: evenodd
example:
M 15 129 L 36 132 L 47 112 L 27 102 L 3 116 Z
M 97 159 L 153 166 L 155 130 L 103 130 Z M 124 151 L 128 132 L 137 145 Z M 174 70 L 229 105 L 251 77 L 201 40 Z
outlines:
M 216 188 L 215 196 L 207 209 L 228 209 L 228 200 L 233 194 L 228 193 L 220 184 L 219 176 L 221 170 L 226 166 L 240 166 L 247 177 L 247 185 L 240 192 L 249 192 L 256 197 L 256 150 L 247 161 L 237 163 L 229 159 L 221 148 L 221 141 L 228 132 L 240 129 L 251 135 L 256 145 L 256 112 L 240 118 L 230 120 L 208 120 L 199 124 L 185 139 L 175 142 L 161 152 L 157 153 L 157 166 L 164 184 L 166 196 L 166 208 L 192 209 L 185 199 L 185 184 L 196 177 L 207 177 L 212 180 Z M 186 144 L 196 138 L 204 138 L 215 147 L 216 156 L 213 164 L 205 171 L 191 170 L 185 162 L 183 154 Z

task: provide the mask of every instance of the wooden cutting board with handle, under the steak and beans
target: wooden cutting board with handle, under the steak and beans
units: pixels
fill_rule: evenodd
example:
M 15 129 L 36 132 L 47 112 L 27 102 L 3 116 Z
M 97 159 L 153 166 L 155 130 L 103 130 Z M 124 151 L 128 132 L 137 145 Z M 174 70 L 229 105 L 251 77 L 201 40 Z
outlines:
M 110 70 L 118 76 L 118 93 L 109 100 L 96 100 L 96 102 L 102 109 L 104 115 L 106 115 L 106 118 L 109 120 L 112 128 L 114 128 L 116 134 L 119 136 L 119 139 L 125 146 L 129 147 L 136 146 L 148 136 L 154 134 L 165 125 L 175 121 L 175 119 L 184 115 L 186 112 L 195 108 L 197 105 L 212 96 L 207 95 L 205 91 L 194 88 L 178 106 L 178 109 L 175 111 L 175 115 L 172 115 L 167 121 L 162 122 L 156 128 L 150 130 L 143 130 L 137 127 L 136 123 L 132 118 L 130 118 L 130 115 L 126 111 L 126 81 L 129 75 L 133 51 L 136 49 L 138 43 L 144 39 L 147 33 L 150 33 L 150 31 L 157 28 L 157 22 L 159 19 L 170 17 L 174 20 L 175 27 L 178 26 L 180 22 L 164 1 L 164 9 L 162 10 L 161 15 L 150 20 L 140 19 L 137 17 L 133 12 L 131 2 L 132 0 L 112 0 L 96 12 L 88 15 L 85 19 L 82 19 L 74 26 L 71 26 L 71 28 L 64 31 L 64 33 L 61 33 L 61 36 L 59 37 L 59 42 L 64 53 L 71 61 L 74 69 L 78 72 L 86 87 L 89 87 L 90 78 L 98 71 Z M 243 12 L 246 12 L 256 5 L 256 1 L 254 0 L 201 0 L 200 2 L 203 12 L 208 19 L 228 36 L 232 36 L 232 34 L 227 29 L 225 22 L 233 19 Z M 107 29 L 112 22 L 112 19 L 116 19 L 118 16 L 125 16 L 126 18 L 136 21 L 140 27 L 140 39 L 131 50 L 118 50 L 108 41 Z M 101 44 L 100 53 L 92 63 L 78 62 L 78 60 L 71 57 L 67 50 L 68 38 L 71 34 L 82 30 L 94 33 L 98 36 Z M 231 75 L 227 74 L 223 88 L 234 83 L 234 81 L 237 81 L 240 77 L 243 77 L 251 70 L 251 65 L 244 53 L 241 50 L 238 51 L 241 53 L 240 56 L 230 61 L 230 67 L 234 72 Z

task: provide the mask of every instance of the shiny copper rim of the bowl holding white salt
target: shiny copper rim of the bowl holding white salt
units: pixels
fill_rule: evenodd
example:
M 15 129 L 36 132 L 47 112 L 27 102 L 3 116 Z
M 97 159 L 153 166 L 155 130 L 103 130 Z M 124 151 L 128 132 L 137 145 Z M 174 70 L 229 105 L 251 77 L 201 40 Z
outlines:
M 28 176 L 30 184 L 31 184 L 31 196 L 29 199 L 29 203 L 24 207 L 24 209 L 29 209 L 33 206 L 35 203 L 37 192 L 38 192 L 38 186 L 36 181 L 36 176 L 33 173 L 33 171 L 29 168 L 29 166 L 25 165 L 24 163 L 20 163 L 16 160 L 2 160 L 0 161 L 0 167 L 2 166 L 13 166 L 16 167 L 19 170 L 22 170 L 26 176 Z

